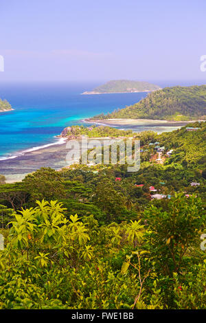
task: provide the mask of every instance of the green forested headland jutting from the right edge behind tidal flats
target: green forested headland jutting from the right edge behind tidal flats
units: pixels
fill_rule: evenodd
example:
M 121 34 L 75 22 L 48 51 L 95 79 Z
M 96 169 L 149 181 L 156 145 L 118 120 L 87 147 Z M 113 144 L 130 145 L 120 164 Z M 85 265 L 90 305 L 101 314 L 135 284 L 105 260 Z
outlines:
M 93 120 L 108 119 L 206 120 L 206 85 L 165 87 L 130 107 L 93 117 Z

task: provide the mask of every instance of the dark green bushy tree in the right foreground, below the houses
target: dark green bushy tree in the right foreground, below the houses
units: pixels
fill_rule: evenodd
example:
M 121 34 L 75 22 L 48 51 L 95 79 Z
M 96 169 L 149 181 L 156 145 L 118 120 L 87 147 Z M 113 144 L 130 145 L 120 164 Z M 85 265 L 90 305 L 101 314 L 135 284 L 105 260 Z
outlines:
M 175 194 L 165 210 L 152 205 L 144 216 L 151 230 L 150 254 L 163 274 L 172 277 L 186 265 L 184 256 L 205 223 L 201 199 Z

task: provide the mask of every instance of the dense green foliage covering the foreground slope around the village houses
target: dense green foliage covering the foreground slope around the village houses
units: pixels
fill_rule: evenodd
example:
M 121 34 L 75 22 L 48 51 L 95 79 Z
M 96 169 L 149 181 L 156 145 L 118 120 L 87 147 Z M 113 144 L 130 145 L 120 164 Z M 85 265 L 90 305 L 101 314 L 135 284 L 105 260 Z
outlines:
M 206 123 L 194 126 L 133 134 L 138 172 L 73 165 L 2 182 L 0 308 L 205 309 Z

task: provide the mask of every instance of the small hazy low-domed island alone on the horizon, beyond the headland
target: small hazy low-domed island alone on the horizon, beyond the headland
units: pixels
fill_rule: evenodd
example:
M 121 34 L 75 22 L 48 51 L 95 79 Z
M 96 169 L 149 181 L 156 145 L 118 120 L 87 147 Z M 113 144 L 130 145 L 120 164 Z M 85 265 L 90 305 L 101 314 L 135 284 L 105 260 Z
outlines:
M 133 80 L 111 80 L 100 87 L 95 87 L 92 91 L 86 91 L 82 94 L 105 94 L 105 93 L 136 93 L 150 92 L 161 89 L 158 85 L 148 82 L 139 82 Z

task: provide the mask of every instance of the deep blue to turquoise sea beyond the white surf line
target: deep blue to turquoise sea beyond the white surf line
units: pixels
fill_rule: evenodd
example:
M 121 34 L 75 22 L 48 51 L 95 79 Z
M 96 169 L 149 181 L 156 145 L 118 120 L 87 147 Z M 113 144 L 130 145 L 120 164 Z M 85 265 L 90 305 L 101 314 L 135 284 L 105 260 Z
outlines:
M 0 159 L 57 141 L 65 126 L 82 124 L 82 119 L 134 104 L 146 93 L 81 96 L 96 85 L 33 83 L 0 85 L 14 111 L 0 113 Z M 0 165 L 1 167 L 1 165 Z

